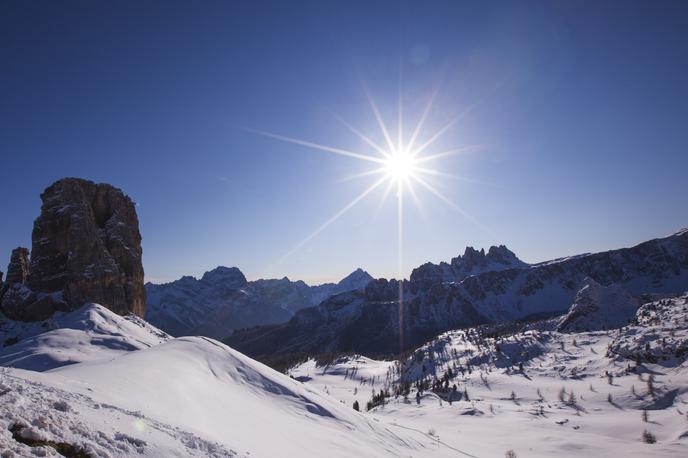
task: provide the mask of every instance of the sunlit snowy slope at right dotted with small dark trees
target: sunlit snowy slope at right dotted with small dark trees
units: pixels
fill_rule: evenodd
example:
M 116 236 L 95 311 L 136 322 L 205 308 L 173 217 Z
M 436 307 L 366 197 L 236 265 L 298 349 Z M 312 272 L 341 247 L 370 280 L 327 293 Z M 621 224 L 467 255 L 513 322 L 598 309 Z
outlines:
M 685 345 L 686 301 L 641 308 L 652 328 L 642 320 L 621 331 L 566 334 L 486 325 L 442 334 L 398 362 L 309 360 L 290 374 L 347 405 L 377 404 L 368 415 L 424 432 L 436 456 L 683 457 L 688 355 L 668 366 L 658 354 L 657 364 L 643 359 L 636 367 L 608 349 L 638 335 L 653 335 L 653 348 L 665 339 L 681 348 L 674 342 Z M 380 392 L 390 394 L 384 403 Z

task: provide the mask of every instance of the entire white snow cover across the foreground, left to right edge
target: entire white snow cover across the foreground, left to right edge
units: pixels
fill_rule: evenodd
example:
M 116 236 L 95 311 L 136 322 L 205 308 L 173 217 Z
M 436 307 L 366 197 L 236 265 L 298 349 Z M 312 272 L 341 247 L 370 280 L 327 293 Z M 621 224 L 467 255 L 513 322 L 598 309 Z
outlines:
M 311 359 L 284 375 L 95 304 L 56 316 L 59 329 L 5 320 L 18 342 L 3 364 L 37 370 L 0 370 L 0 456 L 59 456 L 28 439 L 98 457 L 685 456 L 688 296 L 645 304 L 621 329 L 553 322 L 450 331 L 399 361 Z M 449 369 L 448 391 L 418 391 Z M 408 396 L 395 397 L 402 381 Z M 380 390 L 392 396 L 365 411 Z

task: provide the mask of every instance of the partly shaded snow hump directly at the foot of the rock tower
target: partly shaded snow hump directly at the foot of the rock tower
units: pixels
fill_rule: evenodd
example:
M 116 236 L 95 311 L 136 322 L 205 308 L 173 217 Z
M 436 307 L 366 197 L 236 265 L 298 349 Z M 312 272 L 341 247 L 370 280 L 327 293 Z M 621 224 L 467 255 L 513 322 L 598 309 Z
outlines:
M 56 313 L 43 322 L 0 315 L 0 365 L 45 371 L 85 361 L 111 359 L 149 348 L 169 336 L 135 315 L 122 317 L 98 304 Z

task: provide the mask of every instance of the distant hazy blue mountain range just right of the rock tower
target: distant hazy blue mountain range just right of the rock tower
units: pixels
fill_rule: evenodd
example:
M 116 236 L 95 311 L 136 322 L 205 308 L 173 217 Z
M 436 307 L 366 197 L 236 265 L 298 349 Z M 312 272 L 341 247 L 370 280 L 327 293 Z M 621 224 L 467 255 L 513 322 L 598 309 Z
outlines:
M 305 307 L 341 292 L 364 288 L 373 278 L 358 269 L 339 283 L 309 286 L 303 281 L 246 281 L 236 267 L 217 267 L 200 280 L 146 284 L 146 320 L 175 335 L 224 338 L 234 329 L 281 323 Z

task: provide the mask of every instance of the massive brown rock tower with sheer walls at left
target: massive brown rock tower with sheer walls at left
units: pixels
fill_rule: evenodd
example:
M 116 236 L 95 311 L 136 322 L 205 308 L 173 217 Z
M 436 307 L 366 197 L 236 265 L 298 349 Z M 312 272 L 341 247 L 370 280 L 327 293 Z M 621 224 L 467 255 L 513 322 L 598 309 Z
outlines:
M 53 183 L 41 199 L 41 214 L 32 233 L 28 281 L 3 296 L 5 314 L 40 320 L 55 310 L 96 302 L 120 315 L 142 317 L 146 291 L 141 235 L 132 200 L 109 184 L 78 178 Z M 20 265 L 27 255 L 21 253 Z M 15 276 L 25 272 L 12 263 L 10 267 Z

